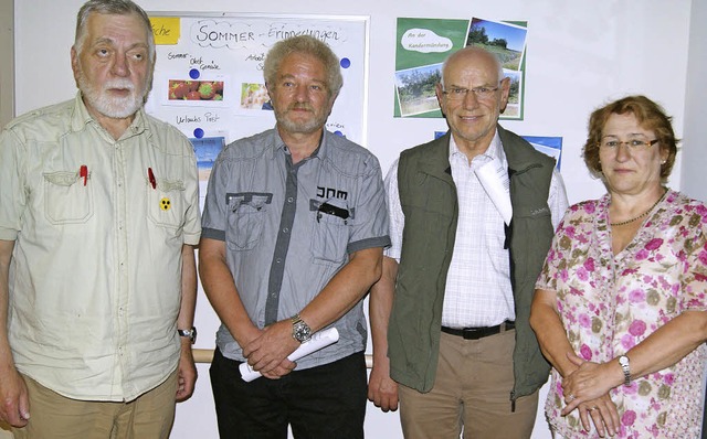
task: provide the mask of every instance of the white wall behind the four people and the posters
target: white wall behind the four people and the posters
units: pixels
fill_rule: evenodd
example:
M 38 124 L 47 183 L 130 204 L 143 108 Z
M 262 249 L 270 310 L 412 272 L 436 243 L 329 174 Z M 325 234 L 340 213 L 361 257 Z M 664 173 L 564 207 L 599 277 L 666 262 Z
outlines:
M 68 51 L 73 42 L 75 12 L 83 0 L 15 1 L 17 113 L 71 98 L 74 83 Z M 384 172 L 399 152 L 445 129 L 441 119 L 392 118 L 395 19 L 398 17 L 460 18 L 528 21 L 526 107 L 524 121 L 505 122 L 520 135 L 561 136 L 564 157 L 562 174 L 570 202 L 602 194 L 602 185 L 592 180 L 580 158 L 588 115 L 609 99 L 625 94 L 645 94 L 659 101 L 674 116 L 678 137 L 690 136 L 694 144 L 704 142 L 705 124 L 698 124 L 697 110 L 704 109 L 705 73 L 704 29 L 697 30 L 707 11 L 695 0 L 331 0 L 244 1 L 141 0 L 148 11 L 272 12 L 370 15 L 370 87 L 368 144 L 380 159 Z M 693 18 L 690 46 L 690 6 Z M 688 52 L 689 47 L 689 52 Z M 701 72 L 689 76 L 690 68 Z M 701 92 L 704 95 L 704 92 Z M 696 130 L 683 125 L 686 111 Z M 704 111 L 703 111 L 704 113 Z M 685 154 L 687 156 L 687 153 Z M 678 157 L 679 158 L 679 157 Z M 692 159 L 690 159 L 692 160 Z M 704 164 L 704 162 L 703 162 Z M 688 169 L 692 182 L 699 170 L 678 162 L 672 186 L 679 189 L 682 169 Z M 704 167 L 703 167 L 704 168 Z M 688 185 L 688 183 L 686 183 Z M 703 196 L 705 194 L 703 193 Z M 200 297 L 198 347 L 213 347 L 218 321 L 205 298 Z M 200 381 L 194 396 L 178 406 L 173 438 L 215 438 L 215 416 L 209 388 L 208 367 L 199 366 Z M 397 414 L 382 414 L 369 407 L 367 437 L 401 438 Z M 534 438 L 549 438 L 542 417 Z

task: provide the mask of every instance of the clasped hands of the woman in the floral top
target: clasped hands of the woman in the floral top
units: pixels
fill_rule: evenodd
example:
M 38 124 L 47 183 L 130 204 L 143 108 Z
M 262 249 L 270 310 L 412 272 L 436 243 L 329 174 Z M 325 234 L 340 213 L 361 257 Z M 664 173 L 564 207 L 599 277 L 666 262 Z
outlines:
M 606 433 L 614 436 L 619 431 L 620 419 L 616 405 L 609 396 L 613 386 L 606 363 L 588 362 L 572 353 L 567 356 L 578 368 L 562 378 L 567 405 L 561 415 L 567 416 L 578 409 L 584 430 L 591 429 L 591 418 L 600 437 L 603 438 Z

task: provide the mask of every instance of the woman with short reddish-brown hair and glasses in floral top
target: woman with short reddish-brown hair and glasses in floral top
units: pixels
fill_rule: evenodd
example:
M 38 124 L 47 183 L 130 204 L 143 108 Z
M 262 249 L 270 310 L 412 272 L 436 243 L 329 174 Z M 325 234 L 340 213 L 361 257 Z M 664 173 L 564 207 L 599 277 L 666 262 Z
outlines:
M 563 438 L 698 438 L 707 361 L 707 207 L 664 186 L 671 118 L 629 96 L 590 118 L 584 161 L 608 193 L 570 207 L 530 324 L 553 366 Z

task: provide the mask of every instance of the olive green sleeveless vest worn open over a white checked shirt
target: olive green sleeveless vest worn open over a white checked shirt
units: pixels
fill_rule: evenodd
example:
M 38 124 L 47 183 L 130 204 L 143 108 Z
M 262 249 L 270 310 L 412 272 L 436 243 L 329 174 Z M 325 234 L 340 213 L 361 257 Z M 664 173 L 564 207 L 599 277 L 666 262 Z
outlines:
M 513 220 L 510 281 L 516 310 L 515 385 L 510 398 L 530 395 L 548 379 L 528 318 L 535 282 L 553 235 L 548 193 L 555 160 L 498 126 L 508 161 Z M 442 302 L 452 260 L 458 206 L 449 160 L 450 133 L 403 151 L 398 163 L 405 215 L 395 296 L 388 329 L 391 377 L 430 392 L 440 352 Z

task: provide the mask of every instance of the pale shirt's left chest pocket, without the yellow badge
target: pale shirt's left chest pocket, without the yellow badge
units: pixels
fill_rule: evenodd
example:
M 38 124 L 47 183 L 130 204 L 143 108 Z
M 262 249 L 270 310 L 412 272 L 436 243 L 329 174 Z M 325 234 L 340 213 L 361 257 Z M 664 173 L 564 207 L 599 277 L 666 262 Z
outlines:
M 93 186 L 78 171 L 45 172 L 44 216 L 51 224 L 82 224 L 93 216 Z M 87 178 L 87 176 L 86 176 Z

